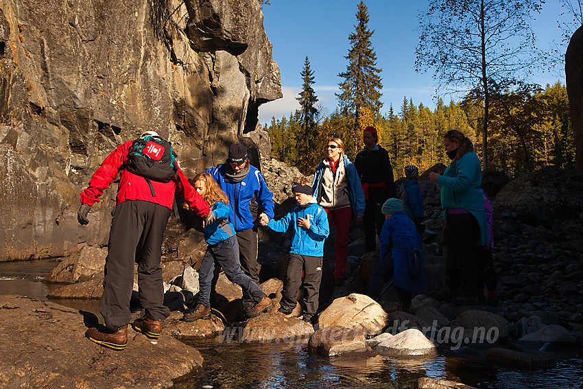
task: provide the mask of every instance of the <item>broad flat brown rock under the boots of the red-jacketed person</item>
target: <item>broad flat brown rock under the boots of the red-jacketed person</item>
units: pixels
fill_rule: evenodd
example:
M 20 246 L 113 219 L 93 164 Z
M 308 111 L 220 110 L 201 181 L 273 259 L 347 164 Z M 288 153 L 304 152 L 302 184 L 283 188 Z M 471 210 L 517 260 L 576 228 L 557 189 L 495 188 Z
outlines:
M 104 349 L 84 336 L 86 326 L 94 323 L 97 316 L 82 316 L 77 309 L 0 295 L 0 327 L 6 337 L 0 342 L 0 386 L 171 388 L 173 379 L 202 368 L 198 351 L 164 332 L 152 341 L 129 328 L 125 350 Z

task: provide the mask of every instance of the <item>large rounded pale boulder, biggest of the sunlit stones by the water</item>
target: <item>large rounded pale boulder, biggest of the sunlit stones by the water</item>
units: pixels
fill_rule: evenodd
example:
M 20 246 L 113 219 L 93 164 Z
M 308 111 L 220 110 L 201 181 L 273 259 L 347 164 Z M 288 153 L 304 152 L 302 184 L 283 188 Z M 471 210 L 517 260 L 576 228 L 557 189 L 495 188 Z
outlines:
M 387 314 L 379 303 L 364 294 L 337 298 L 318 318 L 320 328 L 344 327 L 374 335 L 386 326 Z

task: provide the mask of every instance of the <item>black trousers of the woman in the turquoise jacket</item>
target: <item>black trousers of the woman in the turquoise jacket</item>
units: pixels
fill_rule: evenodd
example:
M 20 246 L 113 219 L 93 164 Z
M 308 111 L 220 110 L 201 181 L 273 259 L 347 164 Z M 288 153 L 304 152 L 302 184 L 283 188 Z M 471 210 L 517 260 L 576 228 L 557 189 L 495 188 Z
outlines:
M 471 213 L 447 215 L 449 252 L 445 263 L 445 283 L 456 292 L 475 297 L 478 286 L 479 225 Z

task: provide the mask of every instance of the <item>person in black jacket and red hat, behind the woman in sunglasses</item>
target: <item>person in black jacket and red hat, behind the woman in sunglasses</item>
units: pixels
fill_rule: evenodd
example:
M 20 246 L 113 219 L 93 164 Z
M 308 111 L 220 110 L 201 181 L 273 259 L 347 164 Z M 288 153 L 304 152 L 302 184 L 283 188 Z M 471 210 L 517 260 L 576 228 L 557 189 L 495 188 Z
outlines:
M 364 150 L 355 159 L 366 207 L 364 209 L 364 237 L 366 252 L 377 249 L 377 237 L 381 236 L 385 217 L 381 207 L 389 198 L 396 198 L 393 168 L 387 150 L 377 145 L 377 130 L 367 127 L 363 132 Z

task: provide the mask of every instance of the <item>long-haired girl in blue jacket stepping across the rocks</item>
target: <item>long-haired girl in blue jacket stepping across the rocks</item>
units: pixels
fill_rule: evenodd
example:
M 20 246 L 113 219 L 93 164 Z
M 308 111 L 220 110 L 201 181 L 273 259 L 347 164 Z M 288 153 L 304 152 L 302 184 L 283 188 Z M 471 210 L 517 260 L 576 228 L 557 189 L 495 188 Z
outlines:
M 200 173 L 194 177 L 194 187 L 204 201 L 211 206 L 211 213 L 203 222 L 206 248 L 199 271 L 200 292 L 195 309 L 185 312 L 184 320 L 193 322 L 211 317 L 211 285 L 215 270 L 215 261 L 223 268 L 229 281 L 239 285 L 247 292 L 255 305 L 246 311 L 253 317 L 273 307 L 272 300 L 265 296 L 261 287 L 241 270 L 239 263 L 239 245 L 233 224 L 228 221 L 230 209 L 228 198 L 209 173 Z M 211 205 L 212 204 L 212 205 Z

